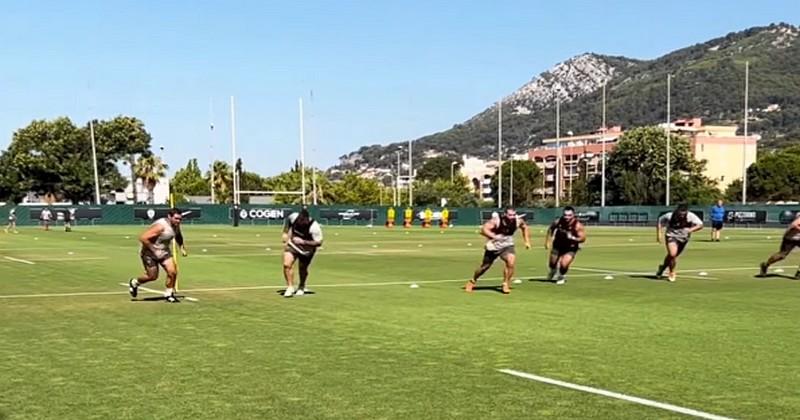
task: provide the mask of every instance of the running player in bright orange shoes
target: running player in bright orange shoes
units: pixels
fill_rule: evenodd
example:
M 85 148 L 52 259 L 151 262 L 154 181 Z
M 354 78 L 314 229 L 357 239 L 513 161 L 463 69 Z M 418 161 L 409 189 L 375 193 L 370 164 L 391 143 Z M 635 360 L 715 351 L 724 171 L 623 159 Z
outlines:
M 503 270 L 503 293 L 511 293 L 511 277 L 514 275 L 514 263 L 516 254 L 514 250 L 514 232 L 517 229 L 522 231 L 525 239 L 525 249 L 531 249 L 530 232 L 525 221 L 517 216 L 516 210 L 507 208 L 502 216 L 497 213 L 487 221 L 481 228 L 481 235 L 486 237 L 486 246 L 483 252 L 483 262 L 475 269 L 472 280 L 464 286 L 464 290 L 472 292 L 478 278 L 483 275 L 497 258 L 503 260 L 505 269 Z

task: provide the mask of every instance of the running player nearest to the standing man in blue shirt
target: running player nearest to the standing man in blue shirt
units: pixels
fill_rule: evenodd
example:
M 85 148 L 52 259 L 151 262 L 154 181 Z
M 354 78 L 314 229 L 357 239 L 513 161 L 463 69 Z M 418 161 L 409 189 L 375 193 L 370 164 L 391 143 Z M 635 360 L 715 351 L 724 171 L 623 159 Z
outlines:
M 658 266 L 656 277 L 661 278 L 664 270 L 669 268 L 667 280 L 672 282 L 675 281 L 676 277 L 675 266 L 678 262 L 678 256 L 686 248 L 692 233 L 703 228 L 703 221 L 696 214 L 690 212 L 688 206 L 681 204 L 675 211 L 671 211 L 658 219 L 658 226 L 656 226 L 656 240 L 658 243 L 661 243 L 661 234 L 664 226 L 666 226 L 664 239 L 667 245 L 667 255 L 664 257 L 664 263 Z

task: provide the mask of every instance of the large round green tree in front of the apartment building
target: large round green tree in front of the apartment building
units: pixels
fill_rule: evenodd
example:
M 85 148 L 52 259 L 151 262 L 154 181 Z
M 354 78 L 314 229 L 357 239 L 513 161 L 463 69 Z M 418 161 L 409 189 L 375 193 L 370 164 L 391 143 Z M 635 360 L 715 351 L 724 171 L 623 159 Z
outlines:
M 658 127 L 626 132 L 609 154 L 606 169 L 607 201 L 612 205 L 657 205 L 666 198 L 667 136 Z M 692 156 L 689 141 L 671 136 L 671 201 L 712 202 L 719 191 L 703 176 L 705 161 Z M 596 185 L 596 184 L 594 184 Z

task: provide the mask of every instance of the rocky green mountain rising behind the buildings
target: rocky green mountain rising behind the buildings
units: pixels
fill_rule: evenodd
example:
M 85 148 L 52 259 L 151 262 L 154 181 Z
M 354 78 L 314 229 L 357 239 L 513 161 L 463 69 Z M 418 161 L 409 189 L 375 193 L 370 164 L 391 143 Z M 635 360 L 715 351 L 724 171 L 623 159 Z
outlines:
M 511 152 L 555 136 L 556 102 L 561 132 L 601 126 L 602 87 L 607 125 L 633 127 L 666 118 L 666 79 L 672 75 L 673 118 L 700 116 L 706 123 L 741 124 L 745 62 L 750 63 L 750 133 L 762 147 L 800 142 L 800 29 L 785 23 L 756 27 L 683 48 L 654 60 L 587 53 L 536 76 L 506 96 L 503 142 Z M 497 154 L 496 104 L 451 129 L 414 141 L 414 159 Z M 340 157 L 332 170 L 384 174 L 407 142 L 365 146 Z

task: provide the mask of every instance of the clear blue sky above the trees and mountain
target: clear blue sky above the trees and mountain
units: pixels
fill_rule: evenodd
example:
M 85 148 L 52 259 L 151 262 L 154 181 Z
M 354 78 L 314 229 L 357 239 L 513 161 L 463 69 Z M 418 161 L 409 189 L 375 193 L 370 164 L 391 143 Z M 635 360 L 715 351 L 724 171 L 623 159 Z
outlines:
M 327 167 L 447 129 L 576 54 L 655 58 L 780 21 L 800 23 L 796 1 L 7 2 L 0 147 L 33 119 L 125 114 L 173 170 L 205 167 L 231 158 L 233 95 L 245 167 L 270 175 L 298 157 L 304 97 L 306 158 Z

